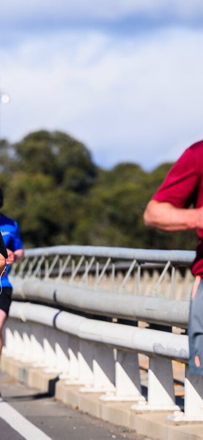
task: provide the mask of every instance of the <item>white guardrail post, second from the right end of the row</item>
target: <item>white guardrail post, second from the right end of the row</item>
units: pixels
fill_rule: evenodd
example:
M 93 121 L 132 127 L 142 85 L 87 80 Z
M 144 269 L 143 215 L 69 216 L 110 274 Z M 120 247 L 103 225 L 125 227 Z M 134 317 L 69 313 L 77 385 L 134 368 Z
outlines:
M 172 361 L 150 357 L 148 401 L 131 406 L 136 411 L 180 411 L 175 403 Z

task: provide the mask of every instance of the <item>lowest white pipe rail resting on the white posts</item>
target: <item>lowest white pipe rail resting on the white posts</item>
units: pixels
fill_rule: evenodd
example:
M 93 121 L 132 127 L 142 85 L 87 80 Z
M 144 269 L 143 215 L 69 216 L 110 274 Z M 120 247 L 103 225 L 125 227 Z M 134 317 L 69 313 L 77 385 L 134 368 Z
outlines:
M 186 363 L 188 361 L 188 337 L 185 335 L 95 321 L 63 310 L 15 301 L 11 306 L 10 317 L 23 322 L 31 321 L 55 327 L 65 333 L 103 343 L 108 347 L 136 350 L 146 355 L 162 356 Z

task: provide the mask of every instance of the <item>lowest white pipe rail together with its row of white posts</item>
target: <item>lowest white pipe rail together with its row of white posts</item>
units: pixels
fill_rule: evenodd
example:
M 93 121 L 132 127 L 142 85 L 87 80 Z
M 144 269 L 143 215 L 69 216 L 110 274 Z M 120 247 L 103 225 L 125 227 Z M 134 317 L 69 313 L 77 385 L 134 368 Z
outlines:
M 149 357 L 147 399 L 138 353 Z M 6 357 L 14 356 L 21 365 L 41 366 L 47 373 L 55 371 L 66 379 L 64 386 L 78 385 L 81 393 L 100 393 L 103 401 L 131 401 L 137 412 L 172 412 L 169 418 L 175 422 L 202 421 L 202 378 L 190 375 L 187 366 L 184 413 L 175 400 L 172 359 L 187 363 L 188 353 L 186 335 L 95 321 L 15 301 L 4 348 Z

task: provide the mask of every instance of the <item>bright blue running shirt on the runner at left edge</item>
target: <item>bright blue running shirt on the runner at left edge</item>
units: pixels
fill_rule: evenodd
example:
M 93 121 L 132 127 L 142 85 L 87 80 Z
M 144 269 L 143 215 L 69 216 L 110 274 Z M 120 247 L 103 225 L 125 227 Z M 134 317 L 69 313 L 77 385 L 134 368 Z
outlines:
M 0 230 L 7 249 L 14 252 L 15 250 L 23 248 L 17 222 L 2 213 L 0 214 Z M 2 287 L 12 287 L 8 279 L 8 274 L 9 266 L 7 266 L 5 275 L 2 276 Z

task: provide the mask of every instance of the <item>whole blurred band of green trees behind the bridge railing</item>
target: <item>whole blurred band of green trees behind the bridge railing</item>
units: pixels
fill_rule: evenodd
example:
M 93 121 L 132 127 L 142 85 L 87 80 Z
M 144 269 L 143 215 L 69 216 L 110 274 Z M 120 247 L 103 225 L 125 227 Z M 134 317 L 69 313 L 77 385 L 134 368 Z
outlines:
M 136 160 L 136 156 L 135 156 Z M 56 244 L 194 249 L 195 231 L 146 228 L 143 212 L 172 164 L 145 172 L 136 163 L 97 167 L 84 144 L 61 132 L 1 141 L 3 212 L 25 247 Z

